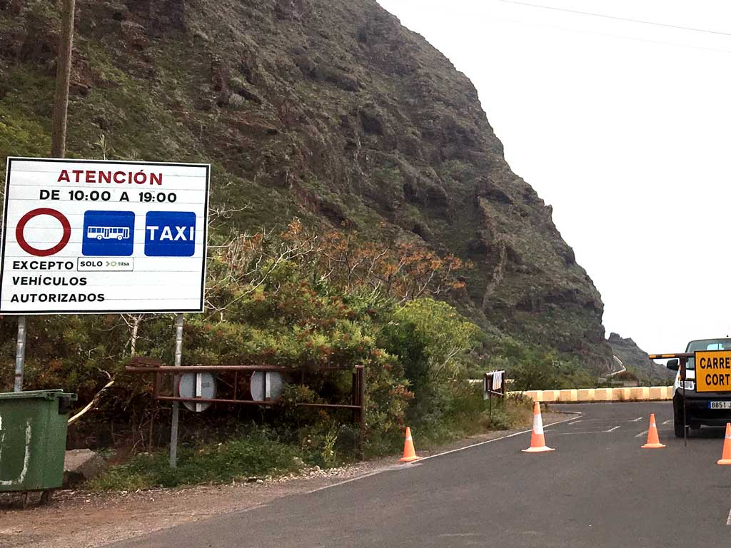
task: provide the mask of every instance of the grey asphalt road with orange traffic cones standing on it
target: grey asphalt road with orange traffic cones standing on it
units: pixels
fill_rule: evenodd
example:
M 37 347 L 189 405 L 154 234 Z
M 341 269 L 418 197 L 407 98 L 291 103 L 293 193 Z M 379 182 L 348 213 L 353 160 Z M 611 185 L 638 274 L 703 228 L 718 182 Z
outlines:
M 670 403 L 556 406 L 583 415 L 115 548 L 728 546 L 723 430 L 673 437 Z M 654 412 L 664 449 L 640 449 Z M 419 434 L 414 431 L 417 444 Z M 639 435 L 639 437 L 637 437 Z

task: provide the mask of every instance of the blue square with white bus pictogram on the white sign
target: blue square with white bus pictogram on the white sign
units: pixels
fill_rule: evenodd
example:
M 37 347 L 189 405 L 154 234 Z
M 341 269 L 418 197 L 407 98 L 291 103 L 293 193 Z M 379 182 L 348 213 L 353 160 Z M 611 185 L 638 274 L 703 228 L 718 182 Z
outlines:
M 135 212 L 86 211 L 81 253 L 86 256 L 131 256 L 134 236 Z

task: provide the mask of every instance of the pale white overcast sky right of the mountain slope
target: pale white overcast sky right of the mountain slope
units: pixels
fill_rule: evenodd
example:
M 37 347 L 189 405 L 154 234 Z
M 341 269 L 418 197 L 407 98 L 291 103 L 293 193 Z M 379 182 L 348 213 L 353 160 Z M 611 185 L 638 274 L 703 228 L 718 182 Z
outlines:
M 731 335 L 727 1 L 379 3 L 477 87 L 601 292 L 607 336 L 666 353 Z

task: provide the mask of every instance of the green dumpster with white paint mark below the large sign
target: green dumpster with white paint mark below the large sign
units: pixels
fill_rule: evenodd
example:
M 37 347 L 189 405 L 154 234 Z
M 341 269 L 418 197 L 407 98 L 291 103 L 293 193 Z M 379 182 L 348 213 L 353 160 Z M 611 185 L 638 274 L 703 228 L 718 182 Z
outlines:
M 60 389 L 0 393 L 0 492 L 61 487 L 75 400 Z

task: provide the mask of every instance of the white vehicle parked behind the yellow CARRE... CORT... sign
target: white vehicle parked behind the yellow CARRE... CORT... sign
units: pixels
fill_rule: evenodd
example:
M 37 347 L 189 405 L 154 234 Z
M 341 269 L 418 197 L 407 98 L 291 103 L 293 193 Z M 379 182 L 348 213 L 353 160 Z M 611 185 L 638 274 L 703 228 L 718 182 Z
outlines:
M 731 351 L 731 338 L 691 340 L 686 347 L 686 353 L 697 351 Z M 673 424 L 675 435 L 683 437 L 683 424 L 688 425 L 691 430 L 697 430 L 700 425 L 724 426 L 731 422 L 731 386 L 728 391 L 718 392 L 697 392 L 696 385 L 696 364 L 694 357 L 686 358 L 685 386 L 682 386 L 680 359 L 673 358 L 667 361 L 668 369 L 678 371 L 675 375 L 673 387 Z M 711 374 L 711 373 L 704 373 Z M 713 373 L 716 376 L 728 373 Z M 728 385 L 728 383 L 726 383 Z M 683 395 L 685 396 L 685 421 L 683 422 Z

